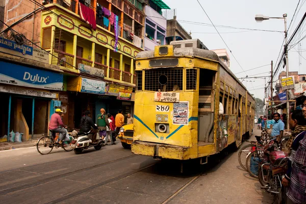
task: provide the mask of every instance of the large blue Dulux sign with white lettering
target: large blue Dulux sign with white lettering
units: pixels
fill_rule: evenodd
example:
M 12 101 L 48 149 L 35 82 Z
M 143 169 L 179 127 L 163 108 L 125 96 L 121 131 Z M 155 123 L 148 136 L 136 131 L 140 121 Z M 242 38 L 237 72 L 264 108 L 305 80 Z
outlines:
M 63 90 L 63 75 L 8 62 L 0 62 L 0 83 L 40 89 Z

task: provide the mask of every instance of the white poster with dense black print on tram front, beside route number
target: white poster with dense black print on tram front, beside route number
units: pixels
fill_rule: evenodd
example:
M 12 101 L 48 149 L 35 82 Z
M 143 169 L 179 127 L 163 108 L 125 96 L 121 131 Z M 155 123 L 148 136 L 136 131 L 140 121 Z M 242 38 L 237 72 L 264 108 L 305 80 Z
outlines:
M 173 124 L 188 125 L 188 101 L 173 104 Z

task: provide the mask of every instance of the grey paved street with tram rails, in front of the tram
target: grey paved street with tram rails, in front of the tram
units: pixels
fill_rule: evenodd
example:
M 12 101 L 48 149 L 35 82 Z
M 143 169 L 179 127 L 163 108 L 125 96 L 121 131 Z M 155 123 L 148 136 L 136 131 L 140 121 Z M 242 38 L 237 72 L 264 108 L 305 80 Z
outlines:
M 238 151 L 220 157 L 181 174 L 179 162 L 133 155 L 120 143 L 82 155 L 0 151 L 0 203 L 272 203 L 241 170 Z

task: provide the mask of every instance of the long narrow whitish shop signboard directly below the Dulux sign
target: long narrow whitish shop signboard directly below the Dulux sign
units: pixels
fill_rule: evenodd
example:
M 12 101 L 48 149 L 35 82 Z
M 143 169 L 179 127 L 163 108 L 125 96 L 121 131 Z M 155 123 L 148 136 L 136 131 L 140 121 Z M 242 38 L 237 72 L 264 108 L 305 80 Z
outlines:
M 0 85 L 0 92 L 12 93 L 12 94 L 21 94 L 28 96 L 37 96 L 43 98 L 57 98 L 56 93 L 52 93 L 45 90 L 34 90 L 26 87 L 18 87 L 18 86 L 8 86 L 8 85 Z

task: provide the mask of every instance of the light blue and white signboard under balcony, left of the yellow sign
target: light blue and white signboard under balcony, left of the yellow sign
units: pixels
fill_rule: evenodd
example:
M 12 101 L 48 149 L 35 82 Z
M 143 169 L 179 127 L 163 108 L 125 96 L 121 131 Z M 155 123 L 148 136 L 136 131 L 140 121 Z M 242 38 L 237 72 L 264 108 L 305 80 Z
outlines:
M 81 92 L 105 94 L 105 82 L 82 78 Z

